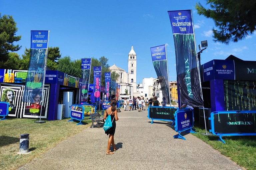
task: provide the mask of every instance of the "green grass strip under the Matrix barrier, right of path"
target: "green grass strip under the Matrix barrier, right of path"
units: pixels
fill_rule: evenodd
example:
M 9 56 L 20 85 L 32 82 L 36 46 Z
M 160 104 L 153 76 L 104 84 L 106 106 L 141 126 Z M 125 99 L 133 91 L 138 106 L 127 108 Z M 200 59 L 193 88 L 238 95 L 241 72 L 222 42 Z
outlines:
M 195 125 L 197 133 L 192 133 L 196 137 L 211 145 L 221 154 L 230 157 L 238 165 L 248 169 L 256 169 L 256 136 L 223 136 L 225 144 L 217 141 L 215 135 L 204 135 L 205 128 Z M 208 132 L 207 132 L 208 133 Z

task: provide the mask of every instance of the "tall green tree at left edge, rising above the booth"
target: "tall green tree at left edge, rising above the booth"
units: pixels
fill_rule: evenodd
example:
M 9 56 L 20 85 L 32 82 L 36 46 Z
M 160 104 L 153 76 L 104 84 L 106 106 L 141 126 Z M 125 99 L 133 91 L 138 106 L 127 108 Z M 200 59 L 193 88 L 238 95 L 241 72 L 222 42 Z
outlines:
M 18 51 L 21 46 L 14 45 L 21 39 L 21 36 L 15 36 L 18 28 L 16 22 L 10 15 L 1 16 L 0 13 L 0 68 L 3 68 L 3 62 L 9 58 L 10 51 Z M 5 66 L 4 66 L 5 67 Z

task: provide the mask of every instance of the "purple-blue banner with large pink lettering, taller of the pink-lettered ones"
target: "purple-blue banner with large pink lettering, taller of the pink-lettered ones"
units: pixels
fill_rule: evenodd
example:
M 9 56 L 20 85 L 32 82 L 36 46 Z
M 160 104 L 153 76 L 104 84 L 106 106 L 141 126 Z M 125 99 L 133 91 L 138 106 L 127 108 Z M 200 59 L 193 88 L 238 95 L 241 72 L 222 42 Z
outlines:
M 93 97 L 95 102 L 100 101 L 101 66 L 93 67 Z

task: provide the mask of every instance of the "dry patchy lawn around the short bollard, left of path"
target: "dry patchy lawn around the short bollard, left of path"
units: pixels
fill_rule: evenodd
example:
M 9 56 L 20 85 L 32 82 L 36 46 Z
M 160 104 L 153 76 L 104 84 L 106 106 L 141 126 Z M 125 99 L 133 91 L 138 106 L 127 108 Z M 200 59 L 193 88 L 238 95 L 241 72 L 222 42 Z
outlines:
M 75 135 L 91 125 L 91 120 L 67 122 L 71 118 L 46 123 L 34 123 L 36 119 L 7 118 L 0 121 L 0 169 L 14 170 L 40 157 L 61 141 Z M 45 121 L 45 120 L 43 120 Z M 29 154 L 18 154 L 20 134 L 29 133 Z

